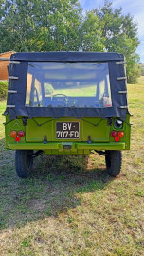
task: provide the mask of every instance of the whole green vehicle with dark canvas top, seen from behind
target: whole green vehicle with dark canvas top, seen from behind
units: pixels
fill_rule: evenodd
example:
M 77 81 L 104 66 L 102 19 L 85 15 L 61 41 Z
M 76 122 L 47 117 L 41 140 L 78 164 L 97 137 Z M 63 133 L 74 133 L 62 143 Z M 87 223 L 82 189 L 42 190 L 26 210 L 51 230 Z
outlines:
M 118 53 L 15 53 L 9 65 L 6 147 L 26 178 L 34 157 L 105 156 L 117 176 L 130 149 L 124 56 Z

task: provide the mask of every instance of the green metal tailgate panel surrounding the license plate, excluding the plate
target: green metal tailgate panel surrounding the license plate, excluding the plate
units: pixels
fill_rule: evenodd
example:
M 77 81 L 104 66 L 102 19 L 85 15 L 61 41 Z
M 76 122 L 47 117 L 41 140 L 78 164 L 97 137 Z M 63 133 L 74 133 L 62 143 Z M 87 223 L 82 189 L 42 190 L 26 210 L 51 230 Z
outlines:
M 75 138 L 56 138 L 56 122 L 79 122 L 80 137 Z M 109 142 L 110 126 L 107 125 L 107 119 L 84 118 L 84 119 L 52 119 L 35 118 L 27 119 L 26 141 L 43 142 L 45 137 L 47 141 L 82 141 L 91 139 L 95 142 Z

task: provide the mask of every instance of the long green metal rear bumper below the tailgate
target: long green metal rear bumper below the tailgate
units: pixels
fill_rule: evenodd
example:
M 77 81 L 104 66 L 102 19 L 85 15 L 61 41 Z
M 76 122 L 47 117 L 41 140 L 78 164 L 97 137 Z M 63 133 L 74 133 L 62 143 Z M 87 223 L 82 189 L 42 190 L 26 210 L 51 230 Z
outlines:
M 7 147 L 11 150 L 43 150 L 45 154 L 50 154 L 50 151 L 57 154 L 88 154 L 92 150 L 124 150 L 125 142 L 111 143 L 85 143 L 85 142 L 48 142 L 43 143 L 10 143 Z M 66 149 L 65 149 L 66 148 Z M 82 153 L 81 153 L 82 152 Z M 51 153 L 52 154 L 52 153 Z

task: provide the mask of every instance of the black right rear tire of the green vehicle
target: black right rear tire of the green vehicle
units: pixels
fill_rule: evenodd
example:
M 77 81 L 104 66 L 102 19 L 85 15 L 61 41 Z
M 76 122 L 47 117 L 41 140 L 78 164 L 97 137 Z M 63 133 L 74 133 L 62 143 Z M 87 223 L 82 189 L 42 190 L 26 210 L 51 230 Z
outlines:
M 106 151 L 106 170 L 110 176 L 116 177 L 120 174 L 122 165 L 122 153 L 119 150 Z

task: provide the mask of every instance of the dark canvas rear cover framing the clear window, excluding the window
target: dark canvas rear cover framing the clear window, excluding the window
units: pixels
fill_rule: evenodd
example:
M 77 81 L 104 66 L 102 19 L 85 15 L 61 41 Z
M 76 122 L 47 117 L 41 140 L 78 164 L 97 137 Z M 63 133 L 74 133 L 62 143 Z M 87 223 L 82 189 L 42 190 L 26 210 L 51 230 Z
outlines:
M 124 56 L 119 53 L 105 52 L 31 52 L 14 53 L 9 66 L 9 94 L 7 110 L 10 120 L 18 116 L 33 117 L 120 117 L 126 120 L 127 88 Z M 107 62 L 112 94 L 112 107 L 71 108 L 71 107 L 27 107 L 27 68 L 28 62 Z M 10 93 L 10 91 L 17 93 Z M 122 93 L 121 93 L 122 92 Z

